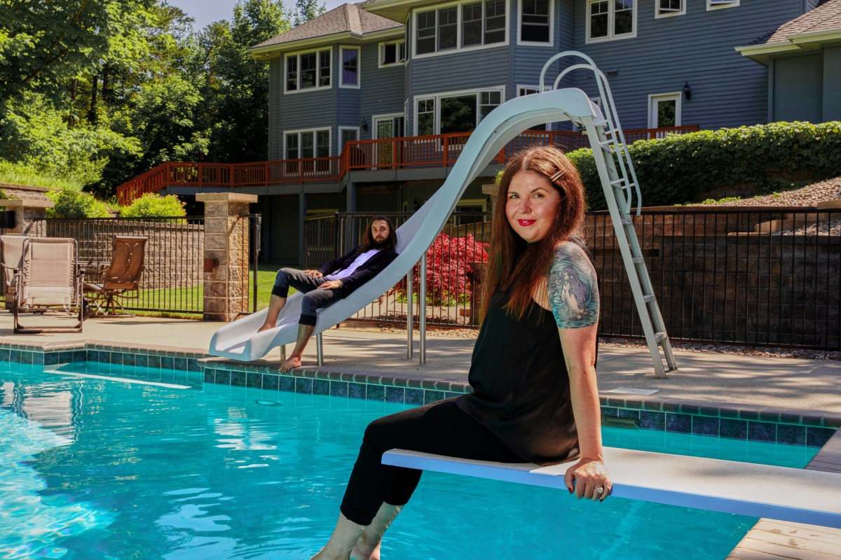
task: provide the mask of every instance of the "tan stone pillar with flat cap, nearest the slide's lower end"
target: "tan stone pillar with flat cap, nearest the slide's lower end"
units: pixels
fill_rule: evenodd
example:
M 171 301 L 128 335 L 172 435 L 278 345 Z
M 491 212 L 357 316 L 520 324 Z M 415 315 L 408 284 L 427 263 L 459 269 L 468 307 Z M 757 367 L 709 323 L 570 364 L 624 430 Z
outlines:
M 204 320 L 233 321 L 248 311 L 248 204 L 257 195 L 202 192 Z

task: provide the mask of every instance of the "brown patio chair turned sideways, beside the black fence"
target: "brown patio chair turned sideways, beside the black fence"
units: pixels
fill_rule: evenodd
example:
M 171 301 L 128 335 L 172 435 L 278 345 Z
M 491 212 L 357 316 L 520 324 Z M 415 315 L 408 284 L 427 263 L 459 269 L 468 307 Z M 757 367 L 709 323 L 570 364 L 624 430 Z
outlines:
M 117 298 L 137 298 L 147 238 L 114 238 L 111 264 L 103 270 L 99 283 L 85 283 L 84 292 L 93 306 L 91 317 L 132 317 Z M 118 311 L 119 310 L 119 311 Z

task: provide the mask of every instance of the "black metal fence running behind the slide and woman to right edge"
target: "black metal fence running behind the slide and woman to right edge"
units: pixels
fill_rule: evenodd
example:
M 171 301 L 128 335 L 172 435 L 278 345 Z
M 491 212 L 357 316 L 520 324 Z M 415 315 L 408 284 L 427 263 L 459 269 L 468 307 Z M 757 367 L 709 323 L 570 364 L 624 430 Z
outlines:
M 358 243 L 360 228 L 371 216 L 308 218 L 305 267 L 315 268 Z M 407 216 L 393 217 L 399 226 Z M 427 254 L 430 324 L 477 326 L 476 283 L 482 266 L 473 263 L 481 255 L 458 249 L 459 243 L 468 243 L 452 239 L 472 235 L 473 243 L 488 243 L 488 220 L 486 214 L 454 213 L 442 231 L 446 238 L 439 238 Z M 841 209 L 652 208 L 634 222 L 670 338 L 841 348 Z M 606 212 L 588 217 L 587 241 L 600 277 L 601 335 L 642 338 Z M 401 283 L 355 318 L 405 322 L 406 299 Z

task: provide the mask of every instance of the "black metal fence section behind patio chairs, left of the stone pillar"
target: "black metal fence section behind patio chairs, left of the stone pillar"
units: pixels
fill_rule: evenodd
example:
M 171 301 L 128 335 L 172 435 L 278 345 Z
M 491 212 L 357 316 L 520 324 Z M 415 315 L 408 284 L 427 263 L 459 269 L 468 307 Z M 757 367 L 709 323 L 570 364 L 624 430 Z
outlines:
M 204 310 L 204 217 L 47 218 L 45 222 L 48 237 L 77 240 L 88 282 L 98 282 L 111 262 L 114 237 L 148 238 L 138 297 L 124 301 L 127 310 L 187 314 Z M 248 293 L 248 275 L 243 282 Z

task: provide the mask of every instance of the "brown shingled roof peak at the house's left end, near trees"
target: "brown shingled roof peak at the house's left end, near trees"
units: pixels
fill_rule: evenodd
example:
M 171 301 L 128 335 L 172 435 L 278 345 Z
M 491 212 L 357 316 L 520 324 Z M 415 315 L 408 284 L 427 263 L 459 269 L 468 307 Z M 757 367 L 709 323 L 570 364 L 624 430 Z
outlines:
M 322 13 L 317 18 L 289 29 L 286 33 L 254 45 L 251 50 L 265 50 L 266 47 L 273 45 L 318 39 L 319 37 L 336 34 L 348 34 L 362 38 L 365 34 L 389 29 L 403 29 L 403 24 L 399 24 L 393 19 L 383 18 L 375 13 L 368 13 L 360 8 L 359 4 L 342 4 L 338 8 L 331 9 L 330 12 Z

